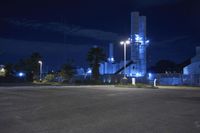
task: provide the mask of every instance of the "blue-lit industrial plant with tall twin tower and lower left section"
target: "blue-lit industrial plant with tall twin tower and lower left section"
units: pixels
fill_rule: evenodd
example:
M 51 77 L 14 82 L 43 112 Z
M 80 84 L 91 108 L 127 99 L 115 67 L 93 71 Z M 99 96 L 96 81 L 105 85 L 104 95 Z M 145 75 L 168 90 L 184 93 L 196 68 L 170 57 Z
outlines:
M 113 55 L 114 45 L 109 45 L 109 57 L 106 62 L 100 64 L 100 74 L 125 74 L 126 77 L 143 77 L 146 74 L 147 61 L 146 49 L 149 41 L 146 37 L 146 17 L 139 12 L 131 13 L 130 32 L 130 59 L 116 62 Z M 125 62 L 125 65 L 124 65 Z M 126 68 L 126 69 L 124 69 Z

